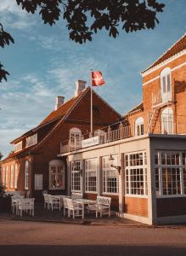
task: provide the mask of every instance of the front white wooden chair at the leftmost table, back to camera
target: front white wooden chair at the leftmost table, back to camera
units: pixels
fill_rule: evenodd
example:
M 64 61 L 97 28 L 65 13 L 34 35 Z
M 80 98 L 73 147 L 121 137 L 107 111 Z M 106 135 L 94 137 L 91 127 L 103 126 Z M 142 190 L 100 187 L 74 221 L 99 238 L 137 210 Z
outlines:
M 22 217 L 22 212 L 30 212 L 30 215 L 34 216 L 34 201 L 35 198 L 23 198 L 19 201 L 18 211 L 20 217 Z

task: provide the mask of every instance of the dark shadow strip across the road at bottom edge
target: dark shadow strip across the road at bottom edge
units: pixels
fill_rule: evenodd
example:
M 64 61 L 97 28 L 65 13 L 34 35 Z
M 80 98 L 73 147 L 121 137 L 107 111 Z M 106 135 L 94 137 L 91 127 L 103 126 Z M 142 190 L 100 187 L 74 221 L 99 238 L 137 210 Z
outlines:
M 45 246 L 45 245 L 6 245 L 0 246 L 1 255 L 14 255 L 14 256 L 51 256 L 51 255 L 117 255 L 117 256 L 185 256 L 186 247 L 173 247 L 173 246 L 128 246 L 128 245 L 70 245 L 70 246 Z

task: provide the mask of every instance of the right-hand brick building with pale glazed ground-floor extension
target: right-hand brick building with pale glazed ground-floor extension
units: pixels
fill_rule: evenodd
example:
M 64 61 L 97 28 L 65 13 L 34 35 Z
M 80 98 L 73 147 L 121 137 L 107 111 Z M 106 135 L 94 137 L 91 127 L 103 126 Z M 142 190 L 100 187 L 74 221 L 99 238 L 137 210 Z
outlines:
M 110 196 L 119 216 L 146 224 L 186 221 L 186 34 L 141 74 L 143 101 L 120 122 L 77 150 L 62 143 L 68 193 Z

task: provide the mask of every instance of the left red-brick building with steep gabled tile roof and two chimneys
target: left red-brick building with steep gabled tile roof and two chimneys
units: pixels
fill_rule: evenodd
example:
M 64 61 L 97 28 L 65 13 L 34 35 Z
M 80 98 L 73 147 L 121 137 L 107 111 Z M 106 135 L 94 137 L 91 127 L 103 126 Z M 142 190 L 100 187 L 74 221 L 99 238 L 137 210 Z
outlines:
M 56 100 L 55 110 L 40 125 L 14 139 L 14 151 L 1 161 L 7 190 L 30 191 L 37 199 L 43 189 L 52 194 L 66 193 L 66 162 L 57 154 L 61 143 L 70 150 L 80 148 L 82 134 L 90 131 L 90 88 L 78 80 L 74 97 L 67 102 L 63 96 Z M 121 115 L 93 91 L 93 129 L 119 119 Z

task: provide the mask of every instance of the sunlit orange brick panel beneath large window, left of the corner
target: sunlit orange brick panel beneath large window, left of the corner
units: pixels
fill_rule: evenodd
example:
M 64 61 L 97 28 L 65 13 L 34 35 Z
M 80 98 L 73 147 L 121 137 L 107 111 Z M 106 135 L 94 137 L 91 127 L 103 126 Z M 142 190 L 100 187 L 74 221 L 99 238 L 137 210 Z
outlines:
M 148 199 L 139 197 L 125 197 L 124 212 L 132 215 L 148 217 Z

